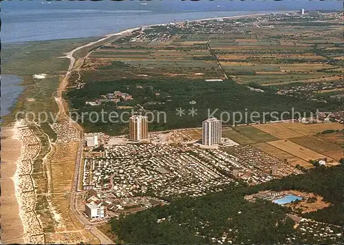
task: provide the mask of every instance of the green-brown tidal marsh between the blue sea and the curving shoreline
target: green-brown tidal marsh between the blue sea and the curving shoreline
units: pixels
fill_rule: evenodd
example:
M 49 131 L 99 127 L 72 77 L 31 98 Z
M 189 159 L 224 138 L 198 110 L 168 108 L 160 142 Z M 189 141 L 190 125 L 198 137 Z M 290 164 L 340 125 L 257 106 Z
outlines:
M 1 47 L 1 74 L 12 74 L 23 78 L 24 92 L 12 113 L 1 116 L 3 123 L 11 122 L 17 111 L 41 111 L 56 114 L 57 106 L 53 98 L 61 76 L 65 74 L 69 59 L 62 58 L 66 52 L 96 38 L 63 39 L 56 41 L 35 41 L 4 44 Z M 44 79 L 35 79 L 34 74 L 47 74 Z

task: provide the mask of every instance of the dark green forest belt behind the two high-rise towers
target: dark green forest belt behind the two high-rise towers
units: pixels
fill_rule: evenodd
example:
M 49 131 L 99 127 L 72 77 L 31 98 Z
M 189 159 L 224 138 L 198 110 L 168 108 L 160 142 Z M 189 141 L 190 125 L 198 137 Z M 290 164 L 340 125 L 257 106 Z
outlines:
M 118 65 L 115 63 L 114 65 Z M 98 111 L 102 109 L 107 112 L 122 112 L 114 104 L 102 104 L 98 106 L 85 105 L 86 101 L 96 100 L 100 96 L 114 93 L 120 90 L 133 96 L 129 102 L 121 102 L 118 105 L 141 105 L 146 111 L 157 114 L 158 111 L 166 114 L 166 121 L 154 120 L 149 123 L 150 131 L 180 129 L 190 127 L 200 127 L 202 120 L 208 118 L 209 114 L 216 111 L 213 116 L 220 117 L 224 124 L 233 125 L 235 123 L 249 123 L 263 120 L 264 111 L 277 111 L 278 118 L 287 119 L 291 114 L 284 114 L 283 111 L 305 112 L 307 115 L 316 109 L 322 111 L 334 111 L 341 107 L 339 101 L 332 103 L 321 103 L 307 98 L 293 98 L 290 96 L 279 96 L 275 94 L 275 89 L 268 89 L 264 93 L 253 92 L 246 85 L 240 85 L 233 81 L 226 80 L 222 82 L 206 82 L 204 80 L 181 80 L 170 78 L 164 80 L 120 80 L 120 81 L 94 81 L 86 83 L 81 89 L 71 89 L 67 92 L 70 108 L 83 112 Z M 191 104 L 191 101 L 195 103 Z M 185 109 L 184 116 L 176 115 L 176 109 Z M 197 109 L 197 115 L 189 115 L 189 109 Z M 124 110 L 125 111 L 125 110 Z M 127 109 L 127 111 L 131 111 Z M 234 117 L 233 113 L 239 111 L 242 115 L 247 113 L 248 118 Z M 257 111 L 260 114 L 258 118 L 250 118 L 250 113 Z M 271 120 L 268 114 L 265 120 Z M 276 120 L 276 119 L 275 119 Z M 123 134 L 127 128 L 127 123 L 118 122 L 98 122 L 96 124 L 85 120 L 83 127 L 86 131 L 104 131 L 110 135 Z

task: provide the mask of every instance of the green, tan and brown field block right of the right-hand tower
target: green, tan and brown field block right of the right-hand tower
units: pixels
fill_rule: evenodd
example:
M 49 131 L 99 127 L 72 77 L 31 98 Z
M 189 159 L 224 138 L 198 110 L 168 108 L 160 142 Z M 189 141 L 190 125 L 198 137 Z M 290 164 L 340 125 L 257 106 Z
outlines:
M 314 166 L 309 160 L 327 158 L 330 164 L 337 164 L 338 160 L 343 158 L 338 132 L 332 137 L 316 135 L 325 129 L 339 129 L 338 125 L 342 127 L 339 123 L 268 123 L 223 129 L 222 137 L 230 138 L 241 145 L 251 145 L 279 160 L 287 161 L 292 166 L 299 165 L 310 169 Z

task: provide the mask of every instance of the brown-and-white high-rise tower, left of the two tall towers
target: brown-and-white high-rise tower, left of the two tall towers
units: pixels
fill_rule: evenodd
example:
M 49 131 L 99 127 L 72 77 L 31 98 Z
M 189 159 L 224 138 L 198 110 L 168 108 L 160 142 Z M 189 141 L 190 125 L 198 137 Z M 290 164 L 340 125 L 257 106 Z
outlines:
M 148 136 L 148 117 L 135 115 L 129 118 L 129 139 L 140 141 Z

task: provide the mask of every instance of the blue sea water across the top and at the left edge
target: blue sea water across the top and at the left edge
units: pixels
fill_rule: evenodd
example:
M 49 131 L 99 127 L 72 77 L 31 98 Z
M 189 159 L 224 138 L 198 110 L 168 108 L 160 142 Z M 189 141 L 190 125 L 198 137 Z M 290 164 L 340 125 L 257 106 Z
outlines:
M 341 10 L 341 1 L 123 0 L 1 1 L 1 43 L 103 36 L 128 28 L 174 21 L 288 10 Z M 6 61 L 4 61 L 6 62 Z M 11 75 L 11 76 L 8 76 Z M 1 116 L 23 91 L 16 74 L 1 74 Z

